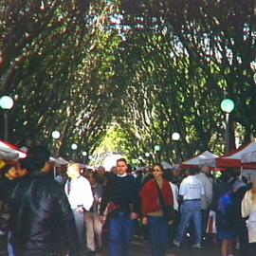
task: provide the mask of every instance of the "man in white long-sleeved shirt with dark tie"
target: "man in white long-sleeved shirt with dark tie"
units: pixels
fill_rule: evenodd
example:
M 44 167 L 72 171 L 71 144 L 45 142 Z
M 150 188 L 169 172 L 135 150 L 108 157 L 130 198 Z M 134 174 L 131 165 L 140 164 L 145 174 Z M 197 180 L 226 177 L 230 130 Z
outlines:
M 79 235 L 79 242 L 82 250 L 85 244 L 85 210 L 90 210 L 94 198 L 89 181 L 80 174 L 81 165 L 71 163 L 67 167 L 68 180 L 64 185 L 64 191 L 75 216 L 76 227 Z

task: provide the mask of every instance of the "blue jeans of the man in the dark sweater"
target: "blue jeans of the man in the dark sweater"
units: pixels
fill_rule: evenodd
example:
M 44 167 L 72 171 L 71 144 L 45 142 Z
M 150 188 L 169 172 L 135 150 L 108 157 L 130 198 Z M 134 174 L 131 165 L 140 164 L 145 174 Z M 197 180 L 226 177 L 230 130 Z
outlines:
M 110 255 L 128 256 L 133 234 L 134 221 L 129 212 L 121 211 L 112 217 L 109 223 Z

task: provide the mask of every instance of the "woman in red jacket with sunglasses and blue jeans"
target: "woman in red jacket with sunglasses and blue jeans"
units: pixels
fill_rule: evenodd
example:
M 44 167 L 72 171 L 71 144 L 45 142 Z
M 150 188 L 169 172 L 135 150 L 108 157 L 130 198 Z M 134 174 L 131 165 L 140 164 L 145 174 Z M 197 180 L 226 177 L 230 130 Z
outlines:
M 161 164 L 153 166 L 154 178 L 148 181 L 140 192 L 142 200 L 142 223 L 149 225 L 149 235 L 153 256 L 165 255 L 168 246 L 168 225 L 164 209 L 174 208 L 174 196 L 171 186 L 163 178 L 164 170 Z

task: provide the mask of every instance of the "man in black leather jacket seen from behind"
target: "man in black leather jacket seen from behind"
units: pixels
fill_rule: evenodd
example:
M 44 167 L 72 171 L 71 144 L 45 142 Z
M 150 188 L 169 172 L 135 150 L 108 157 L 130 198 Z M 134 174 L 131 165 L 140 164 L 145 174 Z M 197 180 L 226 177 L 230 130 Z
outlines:
M 15 256 L 79 255 L 74 216 L 63 186 L 49 172 L 49 152 L 27 152 L 27 177 L 10 198 L 11 244 Z

